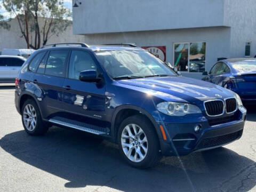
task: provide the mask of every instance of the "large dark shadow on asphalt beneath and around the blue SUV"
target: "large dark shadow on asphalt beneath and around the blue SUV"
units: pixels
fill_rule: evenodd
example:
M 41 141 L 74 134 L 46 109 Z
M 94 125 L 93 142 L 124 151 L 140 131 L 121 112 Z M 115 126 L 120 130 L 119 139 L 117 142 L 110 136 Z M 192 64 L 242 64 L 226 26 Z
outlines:
M 59 127 L 51 127 L 44 137 L 31 137 L 25 131 L 7 134 L 0 147 L 37 169 L 68 180 L 67 188 L 249 191 L 256 185 L 255 162 L 227 148 L 164 157 L 156 167 L 139 170 L 125 163 L 115 144 Z

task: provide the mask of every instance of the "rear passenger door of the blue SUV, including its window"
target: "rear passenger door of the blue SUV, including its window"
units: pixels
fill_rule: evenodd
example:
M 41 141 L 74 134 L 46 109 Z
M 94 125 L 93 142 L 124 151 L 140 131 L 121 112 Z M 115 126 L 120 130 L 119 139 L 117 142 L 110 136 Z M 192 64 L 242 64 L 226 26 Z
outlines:
M 44 55 L 34 76 L 34 83 L 43 97 L 41 109 L 43 118 L 58 116 L 62 110 L 62 91 L 66 73 L 68 49 L 51 50 Z

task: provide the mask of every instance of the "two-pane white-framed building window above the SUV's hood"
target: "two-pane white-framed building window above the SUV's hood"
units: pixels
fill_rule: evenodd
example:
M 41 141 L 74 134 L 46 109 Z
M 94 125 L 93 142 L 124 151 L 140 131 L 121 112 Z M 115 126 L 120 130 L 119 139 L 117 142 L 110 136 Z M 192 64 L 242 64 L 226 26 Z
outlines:
M 174 67 L 178 71 L 205 71 L 205 42 L 174 43 Z

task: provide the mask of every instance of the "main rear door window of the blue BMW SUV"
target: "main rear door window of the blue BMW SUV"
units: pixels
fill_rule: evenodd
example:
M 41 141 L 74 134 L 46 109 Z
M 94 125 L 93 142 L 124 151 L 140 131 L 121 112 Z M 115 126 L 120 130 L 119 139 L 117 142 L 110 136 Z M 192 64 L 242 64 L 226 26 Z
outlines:
M 51 51 L 46 62 L 45 74 L 64 77 L 68 52 L 68 50 Z

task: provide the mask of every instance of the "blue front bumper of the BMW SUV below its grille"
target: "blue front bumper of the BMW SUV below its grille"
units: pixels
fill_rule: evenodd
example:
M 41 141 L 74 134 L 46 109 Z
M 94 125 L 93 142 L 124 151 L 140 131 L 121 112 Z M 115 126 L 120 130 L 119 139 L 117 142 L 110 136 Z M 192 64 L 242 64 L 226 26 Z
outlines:
M 231 114 L 230 121 L 212 125 L 209 119 L 193 123 L 159 123 L 163 125 L 167 140 L 162 140 L 161 150 L 165 156 L 187 155 L 194 151 L 207 150 L 227 145 L 242 137 L 246 110 L 237 110 Z M 214 119 L 213 119 L 214 120 Z M 216 120 L 216 119 L 215 119 Z M 196 133 L 194 127 L 201 125 L 202 129 Z

